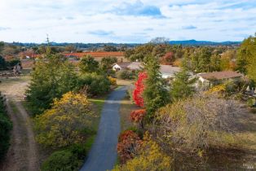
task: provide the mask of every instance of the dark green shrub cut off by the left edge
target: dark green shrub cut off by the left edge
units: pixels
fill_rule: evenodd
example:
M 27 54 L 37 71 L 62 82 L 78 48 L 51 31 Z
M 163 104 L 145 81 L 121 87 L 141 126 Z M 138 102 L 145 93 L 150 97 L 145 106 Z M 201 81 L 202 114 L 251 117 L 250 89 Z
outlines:
M 10 147 L 12 124 L 5 111 L 2 97 L 0 98 L 0 160 L 3 160 Z

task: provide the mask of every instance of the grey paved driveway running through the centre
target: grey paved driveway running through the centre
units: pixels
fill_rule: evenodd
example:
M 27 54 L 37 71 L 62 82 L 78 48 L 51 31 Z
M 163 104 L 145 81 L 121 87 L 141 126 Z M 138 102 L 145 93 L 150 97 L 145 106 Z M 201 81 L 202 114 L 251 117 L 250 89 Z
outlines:
M 81 171 L 105 171 L 113 169 L 117 161 L 117 138 L 120 133 L 119 107 L 126 95 L 126 87 L 114 90 L 104 103 L 99 130 L 86 163 Z

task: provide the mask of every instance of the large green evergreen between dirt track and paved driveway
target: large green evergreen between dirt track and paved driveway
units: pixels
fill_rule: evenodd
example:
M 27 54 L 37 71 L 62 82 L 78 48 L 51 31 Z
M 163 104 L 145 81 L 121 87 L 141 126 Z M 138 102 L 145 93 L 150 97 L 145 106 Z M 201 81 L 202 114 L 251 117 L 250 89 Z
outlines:
M 46 55 L 40 59 L 31 73 L 31 83 L 26 94 L 34 114 L 51 106 L 53 99 L 60 98 L 76 86 L 76 73 L 63 55 Z

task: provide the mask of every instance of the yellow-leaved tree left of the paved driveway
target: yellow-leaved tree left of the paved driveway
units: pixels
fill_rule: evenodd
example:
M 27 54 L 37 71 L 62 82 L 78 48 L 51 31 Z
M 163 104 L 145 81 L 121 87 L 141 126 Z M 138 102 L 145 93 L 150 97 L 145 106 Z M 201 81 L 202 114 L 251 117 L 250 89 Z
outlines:
M 93 117 L 86 96 L 68 92 L 35 118 L 37 141 L 51 147 L 80 143 L 86 138 L 85 130 L 90 128 Z

